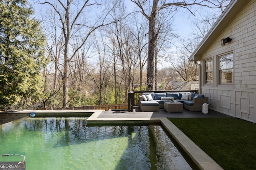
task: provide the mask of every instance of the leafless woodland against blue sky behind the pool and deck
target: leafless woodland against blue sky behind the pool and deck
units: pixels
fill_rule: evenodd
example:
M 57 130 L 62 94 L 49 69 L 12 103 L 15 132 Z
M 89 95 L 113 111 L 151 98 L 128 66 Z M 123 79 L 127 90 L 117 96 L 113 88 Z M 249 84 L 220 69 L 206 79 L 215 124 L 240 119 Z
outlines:
M 47 37 L 42 107 L 126 103 L 130 90 L 198 80 L 188 57 L 229 2 L 31 0 Z

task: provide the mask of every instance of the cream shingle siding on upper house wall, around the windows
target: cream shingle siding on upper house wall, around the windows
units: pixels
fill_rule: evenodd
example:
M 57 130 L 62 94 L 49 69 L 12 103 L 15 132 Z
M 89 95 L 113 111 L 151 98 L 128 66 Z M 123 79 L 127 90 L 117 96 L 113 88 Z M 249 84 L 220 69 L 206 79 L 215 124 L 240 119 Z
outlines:
M 223 38 L 230 37 L 232 41 L 221 46 Z M 229 24 L 223 33 L 216 38 L 212 46 L 204 53 L 202 59 L 214 57 L 215 65 L 217 55 L 230 49 L 234 53 L 234 75 L 242 76 L 234 78 L 236 88 L 256 88 L 256 1 L 252 0 Z M 218 72 L 217 68 L 215 72 Z M 250 75 L 250 76 L 249 76 Z M 236 81 L 244 80 L 244 81 Z M 217 81 L 217 80 L 215 80 Z M 242 84 L 241 84 L 242 83 Z M 253 85 L 253 86 L 251 86 Z

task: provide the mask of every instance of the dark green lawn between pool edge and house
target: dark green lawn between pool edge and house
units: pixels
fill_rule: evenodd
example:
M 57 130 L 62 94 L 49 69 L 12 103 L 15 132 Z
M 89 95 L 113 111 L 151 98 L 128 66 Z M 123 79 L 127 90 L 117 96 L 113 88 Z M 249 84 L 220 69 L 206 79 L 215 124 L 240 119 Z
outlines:
M 237 118 L 168 118 L 225 170 L 256 169 L 256 124 Z

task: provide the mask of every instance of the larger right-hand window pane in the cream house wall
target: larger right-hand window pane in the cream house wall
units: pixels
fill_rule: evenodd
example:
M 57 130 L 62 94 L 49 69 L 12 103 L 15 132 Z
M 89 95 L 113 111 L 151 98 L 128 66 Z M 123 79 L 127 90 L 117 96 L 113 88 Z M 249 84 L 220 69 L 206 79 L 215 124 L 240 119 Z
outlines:
M 220 84 L 233 83 L 233 53 L 219 57 Z

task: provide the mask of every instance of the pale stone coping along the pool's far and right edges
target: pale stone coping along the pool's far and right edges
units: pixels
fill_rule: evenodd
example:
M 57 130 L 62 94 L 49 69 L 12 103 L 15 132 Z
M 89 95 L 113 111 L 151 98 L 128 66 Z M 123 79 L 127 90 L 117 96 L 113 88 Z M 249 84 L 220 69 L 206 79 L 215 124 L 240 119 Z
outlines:
M 166 117 L 151 117 L 152 112 L 130 112 L 130 113 L 112 113 L 105 110 L 24 110 L 9 113 L 35 113 L 35 115 L 76 115 L 90 116 L 87 119 L 88 125 L 110 125 L 110 124 L 140 124 L 140 123 L 161 123 L 172 141 L 176 143 L 185 155 L 191 160 L 196 168 L 200 170 L 223 170 L 208 154 L 200 149 L 193 141 L 191 141 L 178 127 L 176 127 Z M 112 117 L 104 117 L 104 114 L 113 114 Z M 116 116 L 114 115 L 116 114 Z M 115 118 L 116 117 L 116 118 Z

